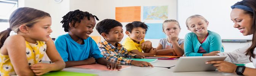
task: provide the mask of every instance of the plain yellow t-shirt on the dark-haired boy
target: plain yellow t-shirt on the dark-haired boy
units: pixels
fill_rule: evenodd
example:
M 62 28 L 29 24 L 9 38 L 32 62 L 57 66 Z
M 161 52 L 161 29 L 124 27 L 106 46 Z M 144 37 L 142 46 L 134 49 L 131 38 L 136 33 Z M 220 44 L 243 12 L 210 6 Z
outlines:
M 122 45 L 123 47 L 125 47 L 125 49 L 127 49 L 128 52 L 132 51 L 132 50 L 138 50 L 139 52 L 142 52 L 141 49 L 141 43 L 144 42 L 144 39 L 142 41 L 138 43 L 135 43 L 133 40 L 131 40 L 131 38 L 128 36 L 125 41 L 123 41 Z

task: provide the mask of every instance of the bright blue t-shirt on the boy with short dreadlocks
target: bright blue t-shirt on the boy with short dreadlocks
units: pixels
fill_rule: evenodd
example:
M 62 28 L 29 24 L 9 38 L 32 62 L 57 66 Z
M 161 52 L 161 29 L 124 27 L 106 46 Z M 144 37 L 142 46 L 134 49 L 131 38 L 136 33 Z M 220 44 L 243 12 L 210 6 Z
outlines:
M 69 34 L 58 36 L 54 41 L 56 49 L 64 62 L 80 61 L 90 57 L 94 59 L 103 57 L 96 42 L 91 37 L 88 37 L 84 42 L 85 44 L 78 44 Z

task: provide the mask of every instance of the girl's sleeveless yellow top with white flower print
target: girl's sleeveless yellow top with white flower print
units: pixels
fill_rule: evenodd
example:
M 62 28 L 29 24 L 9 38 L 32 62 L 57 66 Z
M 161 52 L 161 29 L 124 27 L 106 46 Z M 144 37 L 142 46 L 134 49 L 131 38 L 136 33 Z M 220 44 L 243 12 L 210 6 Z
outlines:
M 37 41 L 35 44 L 26 41 L 26 55 L 28 65 L 30 66 L 42 62 L 45 51 L 46 44 L 44 41 Z M 13 65 L 11 64 L 9 55 L 0 54 L 0 68 L 1 76 L 10 76 L 16 74 Z

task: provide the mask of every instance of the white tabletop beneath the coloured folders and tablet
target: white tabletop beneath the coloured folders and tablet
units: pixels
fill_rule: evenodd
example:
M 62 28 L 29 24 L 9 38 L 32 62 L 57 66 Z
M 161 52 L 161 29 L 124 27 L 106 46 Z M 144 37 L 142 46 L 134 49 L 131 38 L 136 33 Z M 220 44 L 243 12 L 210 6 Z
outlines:
M 79 73 L 92 73 L 98 74 L 99 76 L 237 76 L 232 73 L 222 73 L 218 71 L 198 71 L 198 72 L 172 72 L 178 59 L 175 60 L 158 60 L 157 62 L 151 63 L 157 67 L 136 67 L 131 66 L 121 71 L 106 72 L 96 70 L 86 70 L 80 68 L 64 68 L 63 71 L 73 71 Z M 161 67 L 172 67 L 161 68 Z

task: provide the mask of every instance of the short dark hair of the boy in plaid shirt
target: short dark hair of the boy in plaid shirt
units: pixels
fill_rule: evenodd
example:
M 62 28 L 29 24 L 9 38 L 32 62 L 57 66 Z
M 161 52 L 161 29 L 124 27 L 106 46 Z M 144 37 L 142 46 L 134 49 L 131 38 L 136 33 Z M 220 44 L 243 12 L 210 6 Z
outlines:
M 109 34 L 110 29 L 115 27 L 123 27 L 123 25 L 114 19 L 104 19 L 96 25 L 96 30 L 101 33 Z

